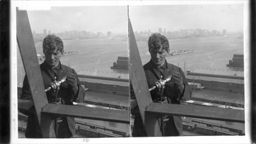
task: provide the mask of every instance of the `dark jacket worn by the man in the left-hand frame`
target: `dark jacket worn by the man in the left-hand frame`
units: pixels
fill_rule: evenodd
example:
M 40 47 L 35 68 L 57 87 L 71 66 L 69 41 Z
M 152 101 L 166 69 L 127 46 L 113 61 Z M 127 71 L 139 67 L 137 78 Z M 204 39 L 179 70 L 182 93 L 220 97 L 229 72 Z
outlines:
M 73 68 L 70 68 L 66 65 L 62 65 L 60 61 L 59 61 L 59 65 L 56 68 L 57 68 L 57 74 L 55 79 L 55 75 L 54 73 L 51 72 L 47 63 L 43 62 L 42 64 L 40 64 L 42 80 L 44 81 L 45 88 L 48 88 L 49 84 L 54 80 L 60 80 L 61 78 L 67 76 L 68 73 L 73 73 L 77 78 L 77 84 L 78 84 L 77 94 L 76 95 L 73 94 L 68 84 L 63 83 L 62 85 L 60 85 L 60 89 L 58 91 L 58 98 L 61 98 L 61 104 L 63 105 L 73 105 L 73 102 L 82 102 L 84 99 L 85 91 L 80 85 L 76 71 Z M 48 102 L 52 103 L 55 99 L 53 92 L 48 91 L 46 92 L 46 94 L 47 94 Z M 27 76 L 25 76 L 25 79 L 23 82 L 21 99 L 32 100 Z M 38 128 L 38 123 L 36 123 L 37 119 L 35 115 L 34 106 L 31 107 L 31 109 L 28 112 L 23 112 L 23 113 L 28 115 L 28 123 L 27 123 L 25 136 L 28 138 L 41 137 L 41 134 Z M 75 118 L 74 117 L 62 117 L 62 118 L 64 118 L 63 122 L 66 123 L 66 127 L 65 125 L 64 127 L 63 125 L 61 125 L 63 128 L 59 127 L 59 129 L 64 129 L 64 131 L 68 131 L 68 132 L 70 131 L 70 134 L 74 136 L 75 135 Z

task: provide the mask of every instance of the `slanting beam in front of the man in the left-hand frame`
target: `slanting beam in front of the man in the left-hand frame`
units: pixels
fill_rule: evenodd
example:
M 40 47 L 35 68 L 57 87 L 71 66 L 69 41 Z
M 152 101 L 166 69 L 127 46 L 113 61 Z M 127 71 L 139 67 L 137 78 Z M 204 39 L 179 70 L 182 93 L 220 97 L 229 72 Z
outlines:
M 48 104 L 45 86 L 42 82 L 42 75 L 39 67 L 39 62 L 36 55 L 35 44 L 30 29 L 30 23 L 28 19 L 27 11 L 18 10 L 16 8 L 16 27 L 17 27 L 17 43 L 22 56 L 24 69 L 28 77 L 29 86 L 31 90 L 31 95 L 33 103 L 35 105 L 37 120 L 41 129 L 42 137 L 55 137 L 54 133 L 49 133 L 49 131 L 54 131 L 53 125 L 45 125 L 44 121 L 41 121 L 41 110 Z M 44 117 L 47 124 L 51 123 L 50 117 Z

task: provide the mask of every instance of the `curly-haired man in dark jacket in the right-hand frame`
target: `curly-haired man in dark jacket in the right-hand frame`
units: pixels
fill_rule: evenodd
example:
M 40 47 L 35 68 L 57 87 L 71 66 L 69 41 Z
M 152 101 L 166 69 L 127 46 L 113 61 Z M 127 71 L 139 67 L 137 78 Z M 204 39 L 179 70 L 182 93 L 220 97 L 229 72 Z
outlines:
M 167 63 L 166 55 L 169 53 L 169 42 L 161 34 L 152 34 L 148 39 L 148 51 L 151 54 L 151 60 L 143 68 L 148 87 L 153 87 L 155 82 L 166 79 L 172 75 L 172 81 L 165 84 L 164 91 L 161 93 L 157 89 L 151 91 L 153 102 L 163 104 L 180 104 L 180 101 L 188 101 L 191 97 L 191 89 L 188 86 L 182 69 L 173 64 Z M 160 100 L 160 97 L 162 100 Z M 165 116 L 164 136 L 179 136 L 182 134 L 181 116 Z M 159 123 L 161 125 L 161 123 Z M 139 114 L 135 115 L 133 137 L 146 136 L 143 123 Z

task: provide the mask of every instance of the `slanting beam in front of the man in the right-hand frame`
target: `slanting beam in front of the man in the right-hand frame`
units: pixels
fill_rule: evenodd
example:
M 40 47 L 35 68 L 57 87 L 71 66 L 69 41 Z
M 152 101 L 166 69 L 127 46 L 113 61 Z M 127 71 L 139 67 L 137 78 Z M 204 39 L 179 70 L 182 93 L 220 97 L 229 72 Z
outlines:
M 133 33 L 133 28 L 129 20 L 129 50 L 130 50 L 130 80 L 134 90 L 135 98 L 139 107 L 142 122 L 147 136 L 162 136 L 157 118 L 152 115 L 145 117 L 145 110 L 153 102 L 146 82 L 146 76 L 142 67 L 140 53 Z

